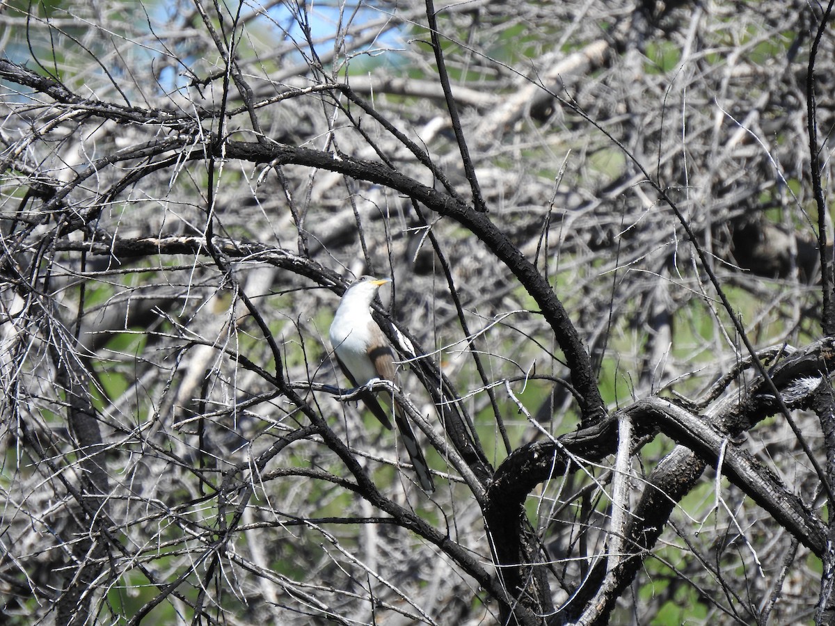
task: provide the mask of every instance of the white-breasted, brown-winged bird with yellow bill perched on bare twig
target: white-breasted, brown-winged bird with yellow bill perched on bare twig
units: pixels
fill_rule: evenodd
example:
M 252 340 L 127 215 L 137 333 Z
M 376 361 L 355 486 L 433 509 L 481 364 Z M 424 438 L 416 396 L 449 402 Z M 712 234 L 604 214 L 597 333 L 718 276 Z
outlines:
M 391 282 L 387 278 L 362 276 L 355 280 L 342 295 L 337 312 L 331 323 L 331 346 L 337 357 L 342 373 L 354 387 L 365 386 L 375 378 L 394 381 L 394 350 L 380 326 L 371 316 L 371 303 L 381 285 Z M 417 480 L 425 492 L 435 491 L 435 483 L 423 451 L 417 443 L 402 406 L 385 391 L 378 394 L 394 405 L 394 421 L 400 432 L 403 446 L 412 460 Z M 371 391 L 362 391 L 359 396 L 368 410 L 377 417 L 384 427 L 391 430 L 392 422 Z

